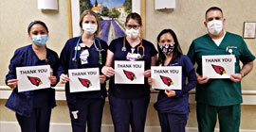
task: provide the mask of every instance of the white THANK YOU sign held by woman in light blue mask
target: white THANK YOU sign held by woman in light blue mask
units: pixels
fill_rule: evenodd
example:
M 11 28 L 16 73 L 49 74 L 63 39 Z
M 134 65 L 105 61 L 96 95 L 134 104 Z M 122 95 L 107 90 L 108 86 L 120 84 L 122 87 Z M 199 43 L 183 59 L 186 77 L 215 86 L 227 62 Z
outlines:
M 50 66 L 17 67 L 18 91 L 34 91 L 50 88 Z

